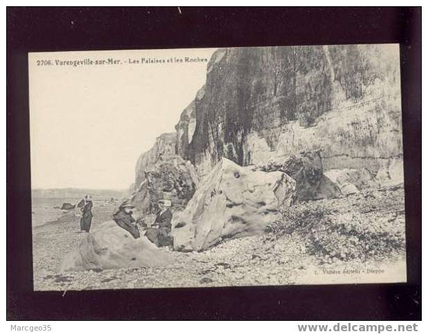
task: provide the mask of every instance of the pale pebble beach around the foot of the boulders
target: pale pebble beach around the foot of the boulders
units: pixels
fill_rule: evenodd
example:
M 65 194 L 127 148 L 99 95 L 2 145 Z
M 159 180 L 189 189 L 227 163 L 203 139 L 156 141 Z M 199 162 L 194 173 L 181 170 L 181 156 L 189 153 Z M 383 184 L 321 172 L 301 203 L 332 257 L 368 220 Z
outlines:
M 380 225 L 404 238 L 404 189 L 371 189 L 361 194 L 306 203 L 306 208 L 331 210 L 335 223 Z M 93 225 L 111 219 L 116 205 L 94 205 Z M 315 208 L 314 208 L 315 210 Z M 323 209 L 324 210 L 324 209 Z M 403 247 L 380 249 L 373 256 L 344 259 L 320 257 L 308 247 L 306 234 L 275 231 L 224 241 L 204 252 L 175 252 L 164 248 L 175 261 L 162 268 L 117 268 L 58 272 L 64 256 L 80 245 L 75 210 L 55 221 L 33 227 L 33 276 L 35 290 L 173 288 L 205 286 L 280 286 L 405 280 Z M 318 232 L 317 232 L 318 233 Z M 383 232 L 382 232 L 383 233 Z M 394 235 L 396 235 L 394 234 Z M 401 240 L 401 239 L 400 239 Z M 395 245 L 396 243 L 394 243 Z M 379 270 L 379 272 L 371 272 Z M 403 274 L 404 272 L 404 274 Z M 403 276 L 404 275 L 404 276 Z

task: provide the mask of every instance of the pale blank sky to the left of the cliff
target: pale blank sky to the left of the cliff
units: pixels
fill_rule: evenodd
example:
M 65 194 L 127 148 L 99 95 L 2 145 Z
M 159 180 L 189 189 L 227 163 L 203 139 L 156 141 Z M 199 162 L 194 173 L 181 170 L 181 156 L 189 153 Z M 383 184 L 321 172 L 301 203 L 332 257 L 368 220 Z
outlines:
M 138 156 L 161 133 L 175 131 L 180 113 L 205 84 L 207 62 L 174 59 L 210 60 L 215 50 L 30 53 L 32 188 L 127 189 Z M 95 64 L 109 58 L 118 64 Z M 144 64 L 142 58 L 165 63 Z M 93 63 L 56 62 L 84 59 Z

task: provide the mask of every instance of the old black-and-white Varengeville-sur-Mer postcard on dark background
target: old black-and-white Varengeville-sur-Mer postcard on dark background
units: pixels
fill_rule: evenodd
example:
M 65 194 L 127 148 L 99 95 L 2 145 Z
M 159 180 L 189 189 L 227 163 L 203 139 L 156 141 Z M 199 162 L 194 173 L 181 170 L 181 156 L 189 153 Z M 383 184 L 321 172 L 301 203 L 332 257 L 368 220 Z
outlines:
M 28 66 L 35 290 L 407 280 L 398 44 Z

